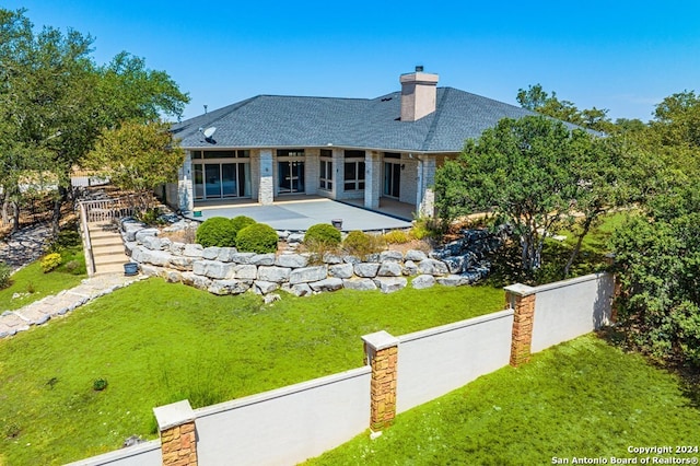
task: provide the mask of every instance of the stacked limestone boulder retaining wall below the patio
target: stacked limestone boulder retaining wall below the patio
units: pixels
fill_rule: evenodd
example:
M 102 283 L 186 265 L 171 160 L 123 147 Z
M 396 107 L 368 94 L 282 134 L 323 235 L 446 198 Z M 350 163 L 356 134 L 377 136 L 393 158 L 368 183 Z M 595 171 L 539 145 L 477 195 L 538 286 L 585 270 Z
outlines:
M 202 247 L 172 242 L 159 237 L 158 229 L 149 229 L 128 219 L 121 221 L 121 231 L 127 254 L 132 261 L 140 264 L 142 273 L 183 282 L 214 294 L 253 290 L 266 295 L 283 290 L 304 296 L 341 288 L 378 289 L 389 293 L 407 287 L 408 277 L 412 277 L 411 287 L 421 289 L 435 283 L 470 284 L 488 272 L 479 261 L 480 254 L 463 252 L 464 248 L 454 244 L 430 254 L 385 251 L 364 260 L 326 254 L 316 260 L 307 253 L 241 253 L 234 247 Z M 284 236 L 280 234 L 280 237 Z M 455 255 L 455 252 L 463 254 Z

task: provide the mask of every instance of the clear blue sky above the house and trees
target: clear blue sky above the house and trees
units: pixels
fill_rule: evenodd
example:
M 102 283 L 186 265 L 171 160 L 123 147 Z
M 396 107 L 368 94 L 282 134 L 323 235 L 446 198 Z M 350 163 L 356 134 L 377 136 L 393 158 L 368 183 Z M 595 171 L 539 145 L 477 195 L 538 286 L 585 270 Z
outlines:
M 690 1 L 2 1 L 36 26 L 95 38 L 166 71 L 185 117 L 258 94 L 376 97 L 416 65 L 439 85 L 516 104 L 541 83 L 579 108 L 652 118 L 700 91 L 700 2 Z

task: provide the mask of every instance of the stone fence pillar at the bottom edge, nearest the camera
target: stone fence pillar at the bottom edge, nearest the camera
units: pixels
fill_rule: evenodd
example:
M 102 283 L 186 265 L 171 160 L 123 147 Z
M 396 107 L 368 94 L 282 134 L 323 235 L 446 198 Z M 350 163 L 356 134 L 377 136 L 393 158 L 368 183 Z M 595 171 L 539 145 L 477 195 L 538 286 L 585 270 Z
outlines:
M 163 466 L 197 466 L 195 411 L 188 400 L 153 408 L 161 432 Z

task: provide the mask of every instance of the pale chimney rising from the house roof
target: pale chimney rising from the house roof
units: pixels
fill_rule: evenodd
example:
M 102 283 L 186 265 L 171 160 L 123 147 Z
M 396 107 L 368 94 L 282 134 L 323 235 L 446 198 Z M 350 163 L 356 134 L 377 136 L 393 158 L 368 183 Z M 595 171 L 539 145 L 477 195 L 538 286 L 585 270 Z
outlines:
M 438 74 L 416 72 L 401 74 L 401 121 L 416 121 L 435 112 L 438 95 Z

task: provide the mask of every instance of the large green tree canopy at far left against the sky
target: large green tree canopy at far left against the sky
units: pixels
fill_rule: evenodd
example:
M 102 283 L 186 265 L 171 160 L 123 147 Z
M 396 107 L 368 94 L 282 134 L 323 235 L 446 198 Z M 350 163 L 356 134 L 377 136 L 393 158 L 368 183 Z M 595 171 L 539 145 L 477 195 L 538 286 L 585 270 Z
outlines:
M 0 9 L 0 186 L 19 202 L 28 170 L 51 171 L 57 206 L 70 189 L 70 171 L 105 128 L 125 119 L 143 124 L 179 116 L 188 102 L 164 71 L 118 54 L 98 66 L 94 39 L 49 26 L 35 33 L 25 10 Z M 16 212 L 16 209 L 15 209 Z M 60 209 L 55 209 L 57 226 Z

